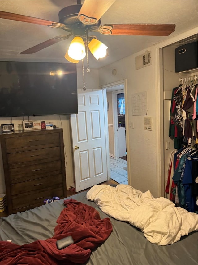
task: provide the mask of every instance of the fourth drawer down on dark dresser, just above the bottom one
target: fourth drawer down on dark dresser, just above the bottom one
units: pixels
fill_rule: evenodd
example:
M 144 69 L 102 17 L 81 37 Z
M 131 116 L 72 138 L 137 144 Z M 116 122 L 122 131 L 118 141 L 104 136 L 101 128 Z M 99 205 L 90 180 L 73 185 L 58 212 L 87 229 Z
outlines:
M 45 178 L 28 180 L 11 185 L 11 195 L 20 194 L 32 190 L 48 188 L 50 186 L 62 183 L 62 174 L 52 175 Z

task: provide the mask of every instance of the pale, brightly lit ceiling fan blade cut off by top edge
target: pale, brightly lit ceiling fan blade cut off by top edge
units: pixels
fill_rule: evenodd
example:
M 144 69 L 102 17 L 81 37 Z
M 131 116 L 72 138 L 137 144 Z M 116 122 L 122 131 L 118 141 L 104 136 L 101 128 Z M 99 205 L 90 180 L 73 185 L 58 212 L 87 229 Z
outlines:
M 114 2 L 115 0 L 85 0 L 78 13 L 78 19 L 84 24 L 95 24 Z

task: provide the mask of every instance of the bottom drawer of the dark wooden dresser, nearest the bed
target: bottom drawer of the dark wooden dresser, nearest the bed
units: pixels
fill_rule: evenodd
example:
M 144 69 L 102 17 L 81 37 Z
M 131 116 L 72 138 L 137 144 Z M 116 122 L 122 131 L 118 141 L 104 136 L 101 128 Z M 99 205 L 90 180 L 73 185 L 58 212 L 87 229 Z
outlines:
M 23 211 L 24 207 L 29 206 L 29 209 L 32 209 L 36 206 L 44 205 L 43 201 L 44 199 L 51 199 L 54 196 L 58 196 L 60 198 L 63 198 L 63 189 L 62 187 L 58 188 L 52 188 L 51 190 L 45 190 L 45 191 L 38 191 L 33 194 L 29 194 L 28 196 L 23 196 L 23 194 L 20 195 L 14 195 L 12 196 L 12 207 L 13 210 L 21 208 L 21 211 Z M 54 202 L 56 203 L 56 202 Z M 25 210 L 27 210 L 26 208 Z M 14 211 L 17 212 L 17 211 Z

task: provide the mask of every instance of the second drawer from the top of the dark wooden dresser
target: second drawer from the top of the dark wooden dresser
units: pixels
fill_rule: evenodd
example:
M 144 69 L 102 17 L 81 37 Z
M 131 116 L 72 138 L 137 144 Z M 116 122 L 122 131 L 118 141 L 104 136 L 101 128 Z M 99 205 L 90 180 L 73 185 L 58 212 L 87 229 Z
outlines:
M 7 154 L 8 164 L 61 157 L 60 146 Z

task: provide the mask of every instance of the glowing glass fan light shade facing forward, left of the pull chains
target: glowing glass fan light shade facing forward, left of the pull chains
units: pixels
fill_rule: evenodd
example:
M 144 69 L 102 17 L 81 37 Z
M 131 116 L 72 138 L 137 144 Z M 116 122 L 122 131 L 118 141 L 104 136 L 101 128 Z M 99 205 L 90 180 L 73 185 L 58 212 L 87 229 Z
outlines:
M 85 57 L 85 46 L 82 38 L 76 36 L 72 39 L 68 49 L 68 55 L 74 60 L 82 60 Z

